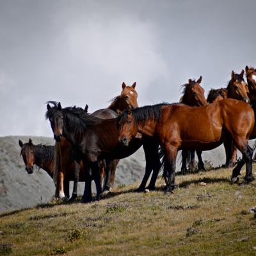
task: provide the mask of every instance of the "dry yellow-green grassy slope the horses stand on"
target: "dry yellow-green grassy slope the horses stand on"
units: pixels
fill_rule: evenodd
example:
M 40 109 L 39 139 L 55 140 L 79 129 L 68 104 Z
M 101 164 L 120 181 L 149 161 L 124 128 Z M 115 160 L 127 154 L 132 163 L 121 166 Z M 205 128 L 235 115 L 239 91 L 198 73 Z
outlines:
M 248 212 L 256 205 L 256 181 L 231 185 L 230 174 L 178 176 L 179 188 L 168 196 L 160 189 L 132 193 L 134 184 L 92 204 L 2 214 L 0 254 L 256 255 L 256 218 Z

